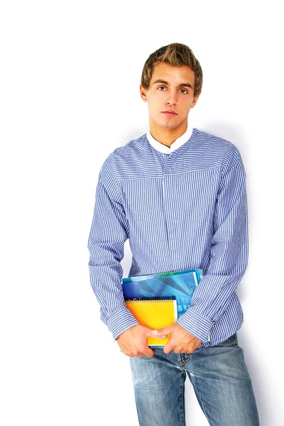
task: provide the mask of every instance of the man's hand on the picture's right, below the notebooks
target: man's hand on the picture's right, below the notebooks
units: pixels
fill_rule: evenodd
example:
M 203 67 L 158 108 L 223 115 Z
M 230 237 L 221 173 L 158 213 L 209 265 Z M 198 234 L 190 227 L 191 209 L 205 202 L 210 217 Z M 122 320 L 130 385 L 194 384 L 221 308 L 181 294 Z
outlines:
M 190 354 L 202 343 L 202 340 L 197 339 L 197 337 L 192 336 L 192 334 L 180 327 L 178 322 L 163 329 L 153 330 L 151 335 L 161 339 L 165 337 L 165 334 L 170 334 L 170 341 L 164 347 L 165 354 L 172 350 L 175 354 L 178 354 L 178 352 Z

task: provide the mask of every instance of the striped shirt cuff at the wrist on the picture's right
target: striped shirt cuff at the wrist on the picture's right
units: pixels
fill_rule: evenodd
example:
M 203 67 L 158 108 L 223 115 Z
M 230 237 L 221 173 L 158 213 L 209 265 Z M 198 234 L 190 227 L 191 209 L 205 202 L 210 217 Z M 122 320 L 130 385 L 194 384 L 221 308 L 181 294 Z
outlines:
M 209 341 L 209 332 L 213 323 L 197 314 L 194 310 L 188 310 L 178 319 L 180 327 L 184 328 L 187 332 L 200 339 L 202 342 Z

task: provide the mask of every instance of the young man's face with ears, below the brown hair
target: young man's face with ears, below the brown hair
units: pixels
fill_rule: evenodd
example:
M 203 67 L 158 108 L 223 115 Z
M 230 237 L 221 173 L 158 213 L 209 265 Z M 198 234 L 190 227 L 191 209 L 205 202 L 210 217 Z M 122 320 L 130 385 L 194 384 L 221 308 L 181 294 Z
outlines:
M 193 95 L 195 72 L 187 65 L 175 67 L 167 62 L 154 65 L 148 90 L 140 84 L 140 94 L 148 102 L 150 126 L 177 129 L 184 126 L 190 108 L 195 107 L 199 95 Z M 165 113 L 175 111 L 175 115 Z

